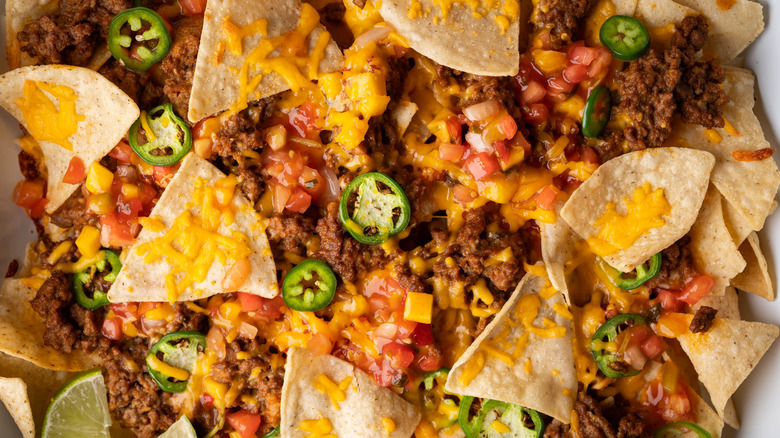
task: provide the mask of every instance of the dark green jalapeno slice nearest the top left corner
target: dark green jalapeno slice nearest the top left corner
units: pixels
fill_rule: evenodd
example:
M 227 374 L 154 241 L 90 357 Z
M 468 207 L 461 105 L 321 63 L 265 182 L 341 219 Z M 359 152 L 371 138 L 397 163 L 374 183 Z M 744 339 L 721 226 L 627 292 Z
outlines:
M 165 20 L 153 10 L 127 9 L 117 14 L 108 27 L 108 49 L 130 70 L 145 71 L 168 54 L 171 34 Z

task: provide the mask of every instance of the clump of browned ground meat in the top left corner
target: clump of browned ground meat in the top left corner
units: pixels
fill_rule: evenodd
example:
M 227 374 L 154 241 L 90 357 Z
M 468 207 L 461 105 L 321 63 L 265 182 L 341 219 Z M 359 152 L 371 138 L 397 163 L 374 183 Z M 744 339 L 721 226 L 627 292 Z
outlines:
M 28 23 L 17 35 L 21 49 L 39 64 L 84 66 L 105 43 L 111 20 L 132 0 L 61 0 L 57 15 Z

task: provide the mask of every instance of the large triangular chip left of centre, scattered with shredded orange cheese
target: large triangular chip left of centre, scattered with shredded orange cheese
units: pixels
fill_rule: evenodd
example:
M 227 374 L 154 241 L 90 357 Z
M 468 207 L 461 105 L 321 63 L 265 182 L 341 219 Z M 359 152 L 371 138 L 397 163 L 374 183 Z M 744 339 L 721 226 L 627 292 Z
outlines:
M 265 224 L 235 184 L 234 176 L 226 177 L 208 161 L 188 154 L 152 209 L 152 222 L 127 250 L 108 299 L 192 301 L 227 292 L 223 282 L 240 260 L 248 261 L 250 269 L 233 291 L 278 295 Z M 232 197 L 217 208 L 221 196 Z M 209 207 L 199 206 L 199 200 Z M 203 280 L 197 280 L 198 273 L 205 273 Z

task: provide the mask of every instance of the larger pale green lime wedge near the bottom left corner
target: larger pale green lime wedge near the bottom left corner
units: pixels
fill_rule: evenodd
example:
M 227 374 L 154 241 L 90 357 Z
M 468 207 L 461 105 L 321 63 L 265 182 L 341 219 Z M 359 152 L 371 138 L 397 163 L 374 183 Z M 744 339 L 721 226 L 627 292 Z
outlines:
M 102 370 L 76 374 L 60 388 L 46 410 L 42 438 L 106 437 L 111 415 Z

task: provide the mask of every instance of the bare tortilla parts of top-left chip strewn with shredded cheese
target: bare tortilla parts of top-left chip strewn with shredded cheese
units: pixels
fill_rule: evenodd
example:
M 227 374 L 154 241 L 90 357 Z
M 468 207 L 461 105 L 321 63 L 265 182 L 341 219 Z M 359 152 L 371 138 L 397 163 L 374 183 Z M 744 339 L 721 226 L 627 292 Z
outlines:
M 299 0 L 261 2 L 254 0 L 209 0 L 206 5 L 203 33 L 200 38 L 198 60 L 195 64 L 195 75 L 192 82 L 192 94 L 187 114 L 190 121 L 197 122 L 204 117 L 225 111 L 240 98 L 240 71 L 247 57 L 264 40 L 295 29 L 301 17 L 301 5 Z M 225 48 L 226 36 L 223 24 L 228 19 L 239 28 L 248 26 L 257 20 L 267 20 L 268 35 L 264 37 L 255 32 L 245 36 L 241 40 L 243 44 L 241 56 L 236 56 L 229 48 Z M 325 28 L 318 24 L 308 38 L 309 53 L 314 49 L 317 39 L 322 33 L 330 38 Z M 276 49 L 271 52 L 269 58 L 278 56 L 279 49 Z M 339 68 L 341 68 L 341 50 L 335 41 L 330 39 L 324 57 L 319 63 L 319 72 L 329 73 Z M 261 73 L 250 72 L 247 83 L 251 83 L 255 74 Z M 275 72 L 266 74 L 262 76 L 262 80 L 254 89 L 247 89 L 247 100 L 249 102 L 260 100 L 289 89 L 290 84 L 280 75 Z

